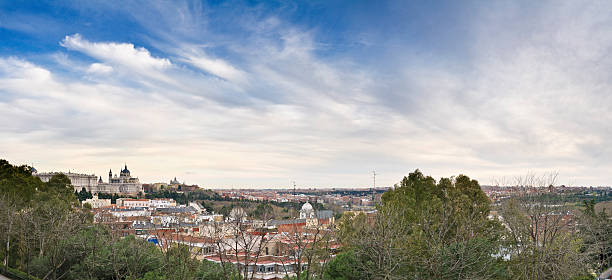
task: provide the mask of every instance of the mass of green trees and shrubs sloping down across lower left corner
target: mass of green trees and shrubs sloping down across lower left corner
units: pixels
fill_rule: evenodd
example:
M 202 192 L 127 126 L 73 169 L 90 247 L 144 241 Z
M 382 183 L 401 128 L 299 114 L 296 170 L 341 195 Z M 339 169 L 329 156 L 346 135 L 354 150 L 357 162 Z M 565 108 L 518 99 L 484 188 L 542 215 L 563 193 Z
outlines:
M 198 261 L 183 245 L 160 250 L 93 224 L 89 209 L 79 204 L 90 193 L 75 194 L 63 174 L 44 183 L 30 170 L 0 160 L 4 274 L 15 279 L 236 279 L 232 267 Z

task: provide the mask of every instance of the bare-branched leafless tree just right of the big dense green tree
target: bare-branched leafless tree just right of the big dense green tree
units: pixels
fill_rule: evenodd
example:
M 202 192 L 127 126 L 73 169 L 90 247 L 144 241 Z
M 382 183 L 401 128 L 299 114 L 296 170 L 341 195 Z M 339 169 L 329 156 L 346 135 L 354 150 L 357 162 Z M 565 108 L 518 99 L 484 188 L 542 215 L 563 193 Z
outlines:
M 507 227 L 505 254 L 513 279 L 567 279 L 587 274 L 583 244 L 574 232 L 576 217 L 554 196 L 543 196 L 556 173 L 516 177 L 523 195 L 505 201 L 501 216 Z

